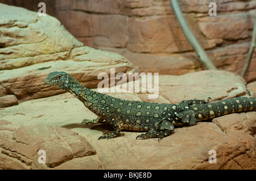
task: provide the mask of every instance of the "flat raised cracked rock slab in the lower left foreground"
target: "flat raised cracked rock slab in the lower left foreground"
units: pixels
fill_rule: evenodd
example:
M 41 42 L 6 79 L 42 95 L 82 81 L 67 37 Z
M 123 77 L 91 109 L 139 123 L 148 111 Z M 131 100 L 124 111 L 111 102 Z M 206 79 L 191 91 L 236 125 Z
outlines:
M 43 163 L 38 162 L 39 150 L 46 152 L 48 167 L 55 167 L 75 157 L 85 157 L 96 153 L 93 146 L 77 133 L 65 128 L 53 129 L 50 125 L 41 124 L 16 129 L 12 139 L 6 138 L 3 141 L 1 152 L 18 159 L 27 166 L 43 168 Z

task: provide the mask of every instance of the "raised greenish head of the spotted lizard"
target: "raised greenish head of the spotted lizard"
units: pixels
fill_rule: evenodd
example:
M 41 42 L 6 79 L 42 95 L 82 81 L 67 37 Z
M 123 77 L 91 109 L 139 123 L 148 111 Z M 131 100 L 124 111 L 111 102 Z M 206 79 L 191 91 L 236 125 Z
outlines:
M 46 85 L 58 86 L 61 89 L 67 89 L 69 86 L 70 75 L 65 71 L 52 71 L 44 80 Z

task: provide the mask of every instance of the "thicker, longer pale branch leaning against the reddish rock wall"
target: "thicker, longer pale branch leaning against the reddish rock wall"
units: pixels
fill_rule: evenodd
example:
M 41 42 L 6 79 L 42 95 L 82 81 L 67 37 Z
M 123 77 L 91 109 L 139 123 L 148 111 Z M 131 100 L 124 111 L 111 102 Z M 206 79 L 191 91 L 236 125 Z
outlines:
M 181 30 L 183 31 L 185 37 L 187 37 L 189 43 L 192 45 L 193 49 L 195 49 L 195 52 L 197 53 L 197 56 L 199 56 L 199 59 L 205 67 L 209 70 L 217 70 L 216 66 L 214 66 L 212 60 L 208 57 L 207 53 L 201 47 L 199 41 L 197 41 L 195 35 L 193 35 L 191 29 L 189 28 L 182 12 L 179 6 L 179 2 L 177 0 L 170 0 L 172 9 L 174 10 L 174 13 L 177 17 L 177 20 L 180 24 Z

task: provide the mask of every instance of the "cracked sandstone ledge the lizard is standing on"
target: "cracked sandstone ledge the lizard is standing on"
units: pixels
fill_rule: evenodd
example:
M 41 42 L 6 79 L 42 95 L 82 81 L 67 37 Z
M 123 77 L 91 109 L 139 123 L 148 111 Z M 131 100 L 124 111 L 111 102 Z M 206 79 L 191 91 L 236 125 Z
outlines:
M 159 103 L 250 95 L 243 79 L 226 71 L 160 75 L 159 87 L 157 99 L 148 99 L 145 93 L 109 95 Z M 96 115 L 69 92 L 1 109 L 0 168 L 256 169 L 256 112 L 232 113 L 178 127 L 160 142 L 157 138 L 135 140 L 141 132 L 130 131 L 122 131 L 114 139 L 97 140 L 113 128 L 104 123 L 81 124 L 85 118 Z M 38 162 L 39 150 L 46 151 L 46 164 Z M 216 151 L 217 163 L 209 163 L 210 150 Z

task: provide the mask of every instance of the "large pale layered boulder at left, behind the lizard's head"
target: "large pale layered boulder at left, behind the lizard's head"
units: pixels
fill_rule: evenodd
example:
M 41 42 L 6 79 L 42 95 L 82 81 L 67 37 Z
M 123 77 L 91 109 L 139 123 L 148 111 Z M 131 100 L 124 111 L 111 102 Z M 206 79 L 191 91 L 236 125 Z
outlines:
M 51 71 L 67 71 L 88 87 L 97 87 L 98 73 L 110 75 L 110 66 L 116 74 L 139 71 L 121 55 L 82 47 L 52 16 L 2 3 L 0 11 L 0 107 L 64 92 L 44 85 Z

